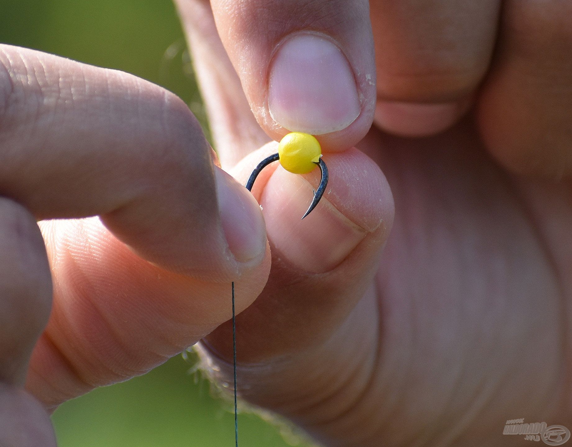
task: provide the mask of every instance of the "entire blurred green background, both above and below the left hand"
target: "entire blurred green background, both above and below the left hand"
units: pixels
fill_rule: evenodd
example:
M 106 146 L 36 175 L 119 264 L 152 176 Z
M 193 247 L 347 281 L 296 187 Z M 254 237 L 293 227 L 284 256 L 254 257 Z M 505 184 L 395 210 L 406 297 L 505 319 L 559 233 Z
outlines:
M 183 98 L 206 125 L 170 0 L 0 0 L 0 42 L 149 79 Z M 177 356 L 145 376 L 66 402 L 53 416 L 59 445 L 233 446 L 231 407 L 189 373 L 193 362 Z M 253 414 L 240 414 L 239 427 L 241 446 L 296 445 Z

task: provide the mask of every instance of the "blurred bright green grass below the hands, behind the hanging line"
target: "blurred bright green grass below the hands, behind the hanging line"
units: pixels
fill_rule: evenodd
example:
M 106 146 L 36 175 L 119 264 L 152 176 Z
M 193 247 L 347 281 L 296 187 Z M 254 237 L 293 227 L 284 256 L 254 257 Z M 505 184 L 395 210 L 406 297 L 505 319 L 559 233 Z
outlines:
M 231 402 L 214 400 L 181 356 L 142 377 L 100 388 L 54 413 L 62 447 L 234 446 Z M 240 414 L 241 446 L 286 446 L 276 429 Z

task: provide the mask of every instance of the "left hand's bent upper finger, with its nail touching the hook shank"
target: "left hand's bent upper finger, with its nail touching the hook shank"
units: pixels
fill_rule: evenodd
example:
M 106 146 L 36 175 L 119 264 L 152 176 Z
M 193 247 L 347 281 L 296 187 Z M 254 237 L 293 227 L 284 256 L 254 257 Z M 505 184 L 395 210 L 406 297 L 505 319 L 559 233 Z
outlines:
M 213 167 L 180 99 L 36 51 L 3 46 L 0 62 L 2 194 L 39 219 L 99 214 L 136 253 L 195 276 L 264 256 L 256 203 Z

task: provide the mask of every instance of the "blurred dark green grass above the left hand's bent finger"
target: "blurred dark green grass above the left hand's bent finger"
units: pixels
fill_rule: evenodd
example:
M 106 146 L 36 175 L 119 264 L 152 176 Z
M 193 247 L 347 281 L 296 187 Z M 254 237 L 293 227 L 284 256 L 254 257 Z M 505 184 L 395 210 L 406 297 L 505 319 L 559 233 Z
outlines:
M 0 0 L 0 42 L 127 71 L 189 104 L 208 134 L 170 0 Z

